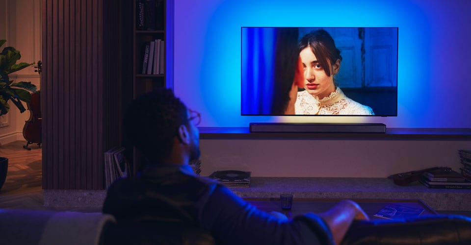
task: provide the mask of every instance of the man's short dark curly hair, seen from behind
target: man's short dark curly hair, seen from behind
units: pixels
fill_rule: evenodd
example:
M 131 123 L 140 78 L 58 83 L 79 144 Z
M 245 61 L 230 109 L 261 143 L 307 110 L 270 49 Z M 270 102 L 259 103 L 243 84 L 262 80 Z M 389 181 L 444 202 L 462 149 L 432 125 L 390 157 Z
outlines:
M 159 88 L 131 101 L 124 130 L 131 144 L 151 162 L 170 155 L 180 125 L 188 122 L 187 108 L 172 90 Z

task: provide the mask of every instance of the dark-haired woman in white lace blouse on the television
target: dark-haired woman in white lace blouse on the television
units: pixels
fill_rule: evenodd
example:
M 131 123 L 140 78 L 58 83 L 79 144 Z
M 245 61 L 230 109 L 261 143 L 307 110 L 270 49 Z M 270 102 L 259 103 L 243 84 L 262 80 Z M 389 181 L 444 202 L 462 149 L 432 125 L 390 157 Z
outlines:
M 374 115 L 373 110 L 343 94 L 335 84 L 340 50 L 325 30 L 306 34 L 298 45 L 304 69 L 304 90 L 297 93 L 296 115 Z

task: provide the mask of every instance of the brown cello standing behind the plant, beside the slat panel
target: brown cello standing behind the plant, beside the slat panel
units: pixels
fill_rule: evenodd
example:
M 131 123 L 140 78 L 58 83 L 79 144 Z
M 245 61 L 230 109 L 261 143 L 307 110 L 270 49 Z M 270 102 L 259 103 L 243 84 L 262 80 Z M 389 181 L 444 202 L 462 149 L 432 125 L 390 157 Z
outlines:
M 41 75 L 42 67 L 41 61 L 38 61 L 38 66 L 35 67 L 38 70 L 39 75 Z M 40 76 L 41 77 L 41 76 Z M 23 148 L 31 150 L 31 147 L 28 147 L 29 144 L 37 143 L 38 147 L 41 147 L 42 143 L 42 118 L 41 118 L 41 93 L 40 91 L 34 92 L 31 94 L 31 100 L 29 103 L 26 103 L 27 110 L 29 110 L 29 119 L 25 122 L 23 127 L 23 137 L 25 137 L 27 143 Z

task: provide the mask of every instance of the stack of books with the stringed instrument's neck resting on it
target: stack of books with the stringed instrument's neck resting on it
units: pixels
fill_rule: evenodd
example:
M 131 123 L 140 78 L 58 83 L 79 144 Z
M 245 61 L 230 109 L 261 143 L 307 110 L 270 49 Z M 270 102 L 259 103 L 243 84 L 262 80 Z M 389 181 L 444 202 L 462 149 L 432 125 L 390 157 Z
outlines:
M 461 173 L 449 168 L 434 172 L 424 172 L 420 182 L 427 188 L 471 189 L 471 181 L 466 179 Z

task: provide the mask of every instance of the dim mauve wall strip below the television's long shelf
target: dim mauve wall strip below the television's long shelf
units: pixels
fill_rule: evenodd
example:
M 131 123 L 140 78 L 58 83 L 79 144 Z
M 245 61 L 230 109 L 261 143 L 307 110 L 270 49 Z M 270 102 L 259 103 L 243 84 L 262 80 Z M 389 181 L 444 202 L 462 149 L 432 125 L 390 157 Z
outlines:
M 250 171 L 257 177 L 387 177 L 431 167 L 460 171 L 470 141 L 204 139 L 201 175 Z

